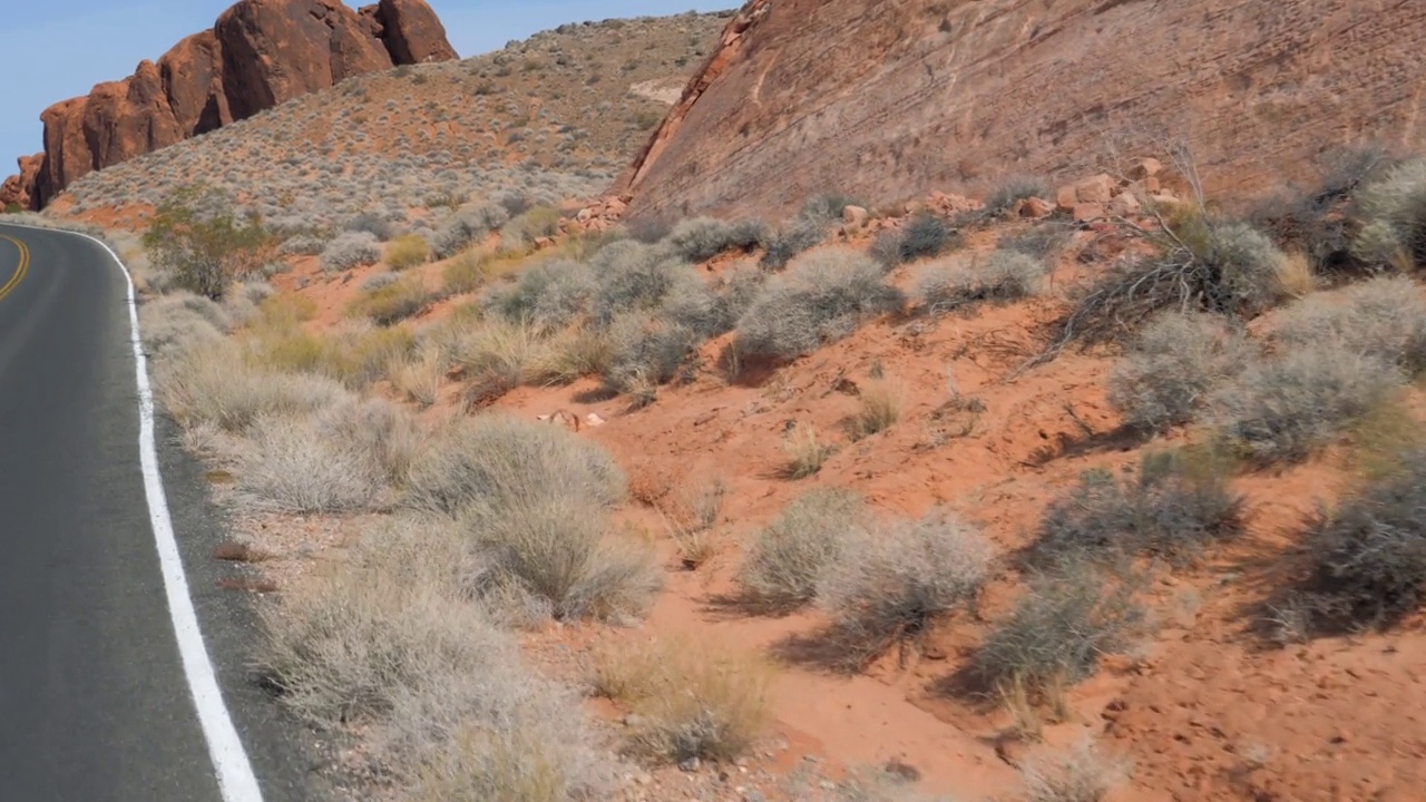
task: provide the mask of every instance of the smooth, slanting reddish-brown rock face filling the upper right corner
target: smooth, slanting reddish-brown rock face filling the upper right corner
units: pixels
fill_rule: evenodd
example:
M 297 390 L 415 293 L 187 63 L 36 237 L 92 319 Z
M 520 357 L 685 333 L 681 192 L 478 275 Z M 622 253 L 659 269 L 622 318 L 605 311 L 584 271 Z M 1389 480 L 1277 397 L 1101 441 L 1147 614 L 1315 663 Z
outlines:
M 1117 140 L 1251 191 L 1426 143 L 1423 47 L 1400 0 L 752 0 L 615 190 L 635 218 L 886 203 L 1078 177 Z

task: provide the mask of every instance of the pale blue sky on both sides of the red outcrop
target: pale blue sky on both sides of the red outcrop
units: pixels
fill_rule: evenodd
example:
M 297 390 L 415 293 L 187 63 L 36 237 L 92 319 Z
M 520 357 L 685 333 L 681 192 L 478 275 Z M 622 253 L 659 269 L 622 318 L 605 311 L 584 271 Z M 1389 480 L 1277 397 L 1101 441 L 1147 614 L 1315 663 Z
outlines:
M 158 60 L 180 39 L 212 27 L 234 0 L 3 0 L 0 178 L 14 160 L 44 150 L 40 111 L 87 94 L 101 81 Z M 428 0 L 462 57 L 498 50 L 512 39 L 563 23 L 732 9 L 740 0 Z M 348 0 L 349 6 L 375 0 Z

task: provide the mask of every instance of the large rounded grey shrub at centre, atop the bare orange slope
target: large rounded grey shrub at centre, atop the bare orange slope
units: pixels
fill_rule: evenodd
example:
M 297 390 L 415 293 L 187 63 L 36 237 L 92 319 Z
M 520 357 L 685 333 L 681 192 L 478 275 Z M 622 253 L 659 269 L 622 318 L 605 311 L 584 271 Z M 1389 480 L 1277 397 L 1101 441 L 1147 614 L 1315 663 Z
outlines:
M 800 357 L 904 303 L 870 258 L 841 248 L 811 254 L 767 281 L 737 321 L 734 347 L 744 355 Z

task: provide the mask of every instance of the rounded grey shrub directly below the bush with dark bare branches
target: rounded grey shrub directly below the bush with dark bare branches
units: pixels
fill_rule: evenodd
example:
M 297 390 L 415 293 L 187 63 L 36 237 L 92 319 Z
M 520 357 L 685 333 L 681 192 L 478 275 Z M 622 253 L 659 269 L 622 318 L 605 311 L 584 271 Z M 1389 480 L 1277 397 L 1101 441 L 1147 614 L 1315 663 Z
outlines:
M 1109 404 L 1124 425 L 1164 432 L 1186 424 L 1248 364 L 1251 345 L 1222 318 L 1162 313 L 1139 331 L 1109 374 Z

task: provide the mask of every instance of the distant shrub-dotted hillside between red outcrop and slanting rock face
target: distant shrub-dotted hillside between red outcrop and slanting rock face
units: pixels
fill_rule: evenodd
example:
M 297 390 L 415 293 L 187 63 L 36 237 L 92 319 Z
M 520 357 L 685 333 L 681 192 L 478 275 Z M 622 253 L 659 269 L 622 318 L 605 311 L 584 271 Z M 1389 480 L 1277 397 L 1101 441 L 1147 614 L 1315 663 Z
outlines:
M 398 67 L 295 97 L 90 174 L 57 213 L 140 213 L 202 180 L 294 227 L 501 190 L 605 191 L 697 68 L 727 14 L 569 24 L 461 61 Z

